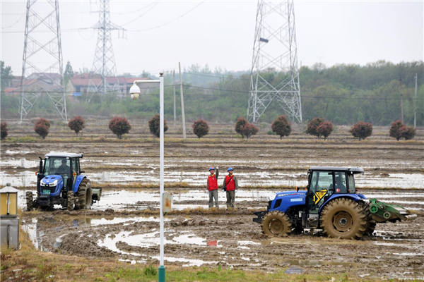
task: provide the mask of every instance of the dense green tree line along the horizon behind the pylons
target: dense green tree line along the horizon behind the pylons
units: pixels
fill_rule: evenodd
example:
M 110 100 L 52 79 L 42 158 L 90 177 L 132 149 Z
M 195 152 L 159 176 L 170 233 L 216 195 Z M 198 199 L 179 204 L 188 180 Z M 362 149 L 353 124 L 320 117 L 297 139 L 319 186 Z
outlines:
M 418 93 L 415 99 L 415 75 Z M 269 69 L 262 73 L 271 85 L 277 85 L 285 73 Z M 172 73 L 165 74 L 165 116 L 173 118 Z M 178 83 L 178 82 L 177 82 Z M 249 72 L 232 73 L 193 65 L 183 75 L 186 119 L 196 121 L 235 122 L 247 116 Z M 177 116 L 181 116 L 179 85 L 176 85 Z M 88 99 L 90 95 L 90 99 Z M 365 66 L 338 64 L 326 67 L 322 63 L 300 68 L 302 118 L 305 123 L 317 116 L 336 125 L 352 125 L 358 121 L 374 125 L 390 125 L 401 119 L 401 98 L 404 99 L 404 123 L 413 124 L 416 110 L 417 125 L 424 125 L 424 63 L 423 61 L 390 63 L 377 61 Z M 90 102 L 88 102 L 90 101 Z M 1 94 L 4 116 L 17 116 L 18 95 Z M 122 99 L 117 94 L 83 94 L 67 102 L 68 112 L 84 116 L 125 115 L 148 119 L 159 111 L 157 92 L 141 95 L 137 102 Z M 45 112 L 49 106 L 38 99 L 33 115 Z M 259 123 L 272 123 L 283 110 L 272 103 Z

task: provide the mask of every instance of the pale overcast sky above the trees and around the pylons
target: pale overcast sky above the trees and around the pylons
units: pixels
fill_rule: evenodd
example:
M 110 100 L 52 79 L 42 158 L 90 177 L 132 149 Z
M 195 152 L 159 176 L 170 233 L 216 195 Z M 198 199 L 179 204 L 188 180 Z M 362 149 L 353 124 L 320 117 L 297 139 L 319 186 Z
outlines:
M 112 22 L 128 30 L 126 39 L 112 32 L 118 73 L 177 70 L 179 61 L 249 70 L 257 1 L 157 2 L 111 0 Z M 0 56 L 15 75 L 22 72 L 25 8 L 26 1 L 1 0 Z M 95 25 L 95 11 L 95 0 L 59 0 L 64 66 L 71 61 L 74 71 L 92 67 L 98 35 L 71 29 Z M 295 1 L 295 24 L 302 66 L 423 60 L 423 1 Z

